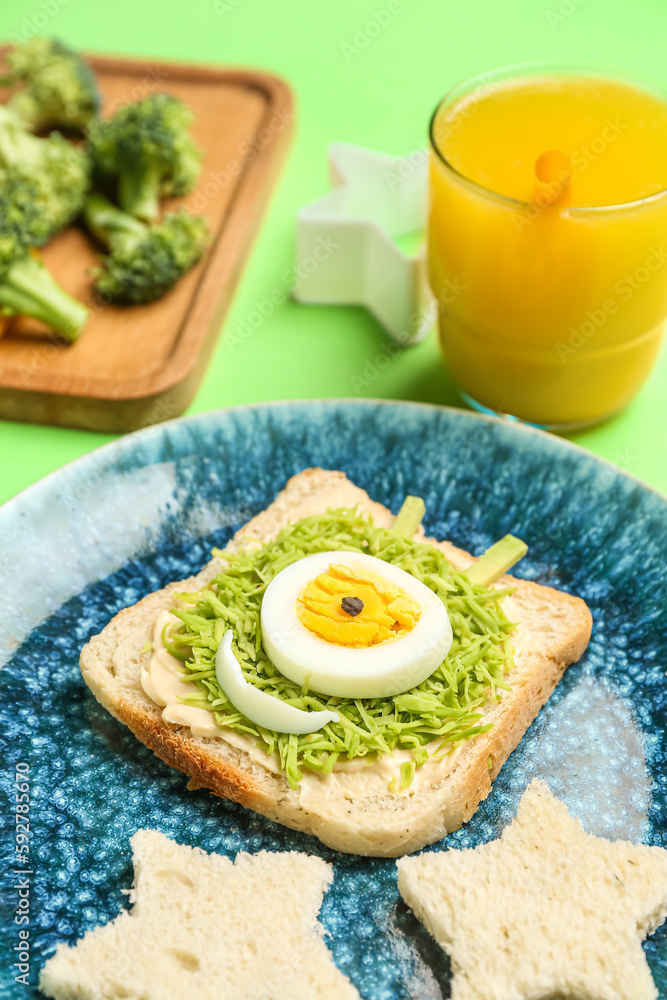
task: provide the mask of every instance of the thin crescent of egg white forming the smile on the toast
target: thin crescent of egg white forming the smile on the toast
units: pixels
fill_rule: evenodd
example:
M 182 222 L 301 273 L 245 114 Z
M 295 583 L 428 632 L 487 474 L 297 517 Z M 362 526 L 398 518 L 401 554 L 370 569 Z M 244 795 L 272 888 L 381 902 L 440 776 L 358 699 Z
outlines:
M 280 698 L 249 684 L 232 649 L 233 632 L 227 629 L 215 655 L 215 676 L 234 708 L 251 722 L 277 733 L 316 733 L 327 722 L 337 722 L 336 712 L 304 712 Z

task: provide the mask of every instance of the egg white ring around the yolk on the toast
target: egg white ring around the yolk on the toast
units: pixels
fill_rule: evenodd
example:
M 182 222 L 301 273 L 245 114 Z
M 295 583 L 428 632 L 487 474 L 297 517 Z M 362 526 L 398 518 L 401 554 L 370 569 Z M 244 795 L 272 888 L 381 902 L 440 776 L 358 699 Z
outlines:
M 401 587 L 419 604 L 419 621 L 406 635 L 377 646 L 338 646 L 310 632 L 296 613 L 306 584 L 331 565 L 358 567 Z M 359 552 L 317 552 L 281 570 L 266 588 L 261 610 L 266 654 L 285 677 L 340 698 L 388 698 L 421 684 L 452 644 L 447 609 L 437 594 L 405 570 Z

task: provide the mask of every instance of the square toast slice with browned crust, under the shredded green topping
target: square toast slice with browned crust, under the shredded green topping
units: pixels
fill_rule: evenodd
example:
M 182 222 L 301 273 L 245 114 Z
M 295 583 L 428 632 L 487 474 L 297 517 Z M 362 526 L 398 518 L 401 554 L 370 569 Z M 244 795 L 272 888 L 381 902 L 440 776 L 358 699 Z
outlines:
M 377 525 L 391 527 L 391 511 L 371 500 L 344 473 L 307 469 L 290 479 L 227 548 L 236 551 L 242 540 L 247 544 L 250 538 L 264 543 L 288 523 L 329 507 L 355 506 L 371 514 Z M 473 562 L 472 556 L 449 542 L 426 538 L 421 527 L 415 539 L 440 548 L 457 569 Z M 308 775 L 295 791 L 283 775 L 258 763 L 257 755 L 224 738 L 195 737 L 188 727 L 165 723 L 162 710 L 141 686 L 142 665 L 151 657 L 150 651 L 142 650 L 152 638 L 156 616 L 173 606 L 175 593 L 198 590 L 219 569 L 219 560 L 213 559 L 197 576 L 169 584 L 116 615 L 82 650 L 84 680 L 111 715 L 163 761 L 190 777 L 188 788 L 208 788 L 347 853 L 399 857 L 440 840 L 470 819 L 565 668 L 584 652 L 591 633 L 590 612 L 579 598 L 503 577 L 499 585 L 516 587 L 505 610 L 520 625 L 512 636 L 515 666 L 508 676 L 512 690 L 485 712 L 493 729 L 464 743 L 446 774 L 428 762 L 418 769 L 420 781 L 399 794 L 387 791 L 386 778 L 383 783 L 372 781 L 363 772 L 339 772 L 329 776 L 331 781 Z M 432 778 L 421 773 L 431 766 Z

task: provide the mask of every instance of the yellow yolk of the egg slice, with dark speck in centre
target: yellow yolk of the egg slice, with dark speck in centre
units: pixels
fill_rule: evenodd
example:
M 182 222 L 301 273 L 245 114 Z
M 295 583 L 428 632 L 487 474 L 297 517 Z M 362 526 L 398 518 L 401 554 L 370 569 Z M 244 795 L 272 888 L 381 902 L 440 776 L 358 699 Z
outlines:
M 363 607 L 357 611 L 359 602 Z M 381 576 L 332 565 L 306 584 L 297 598 L 296 613 L 302 625 L 327 642 L 376 646 L 412 631 L 421 608 Z

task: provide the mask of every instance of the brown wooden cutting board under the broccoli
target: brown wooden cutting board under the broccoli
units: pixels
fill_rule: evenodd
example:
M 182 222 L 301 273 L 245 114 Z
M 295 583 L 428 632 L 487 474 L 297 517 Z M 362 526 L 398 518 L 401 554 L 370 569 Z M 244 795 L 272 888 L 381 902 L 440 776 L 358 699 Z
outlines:
M 94 246 L 76 226 L 60 233 L 44 249 L 45 263 L 91 318 L 70 346 L 34 321 L 11 322 L 0 337 L 0 417 L 129 431 L 178 416 L 195 394 L 287 149 L 293 102 L 287 84 L 265 73 L 87 58 L 103 114 L 158 92 L 190 105 L 204 150 L 201 177 L 192 194 L 166 207 L 208 216 L 213 239 L 159 302 L 114 307 L 91 295 Z

